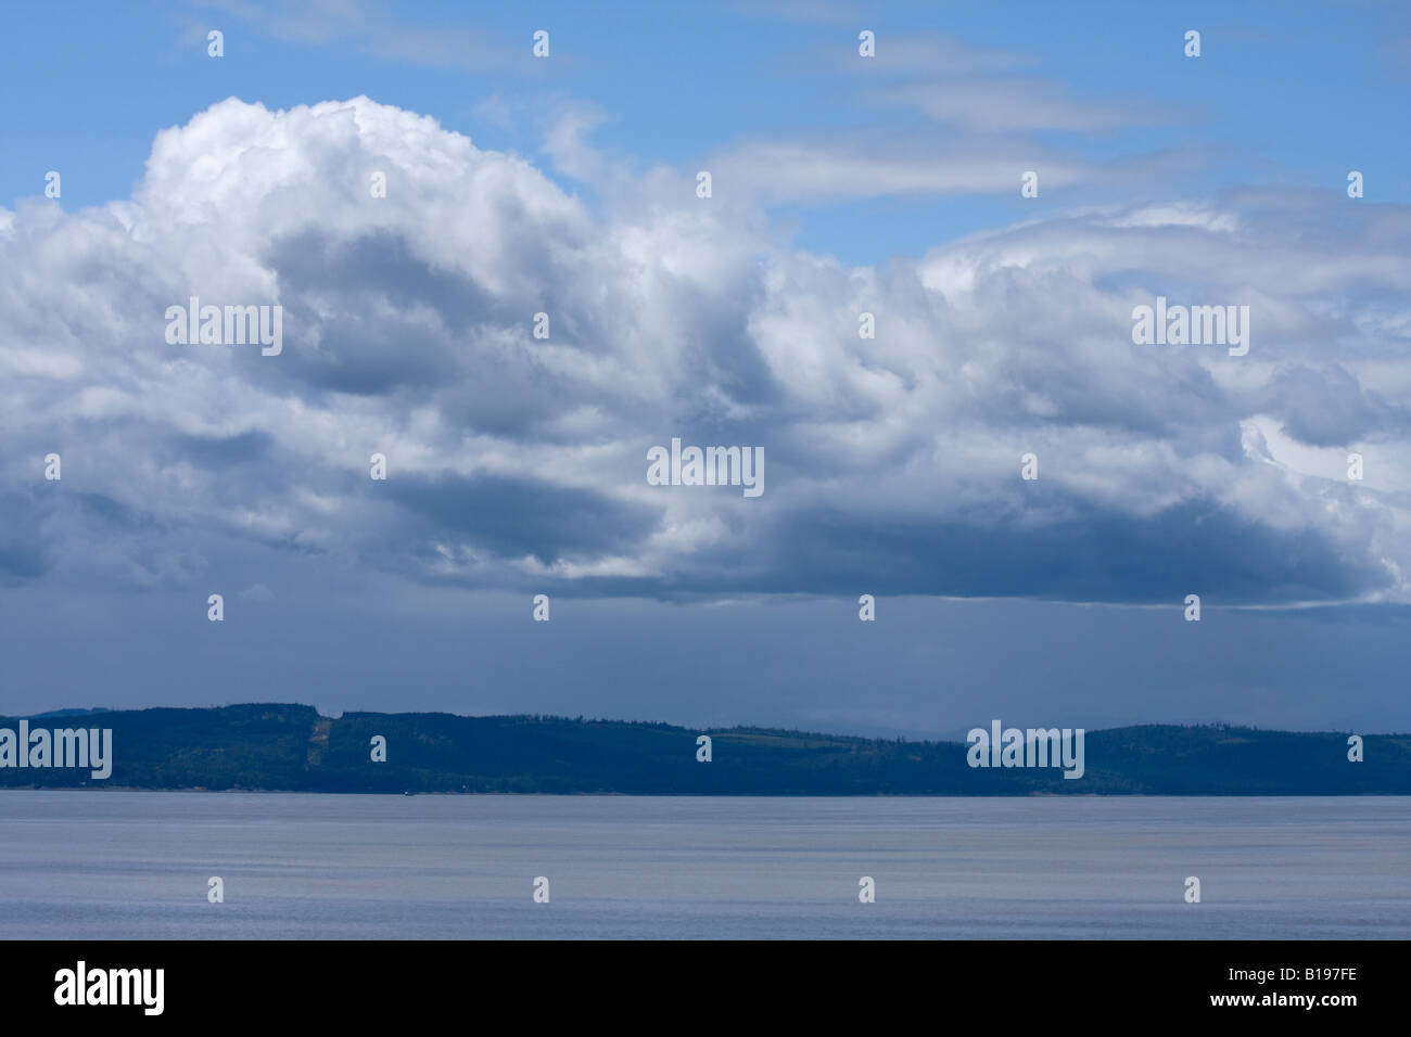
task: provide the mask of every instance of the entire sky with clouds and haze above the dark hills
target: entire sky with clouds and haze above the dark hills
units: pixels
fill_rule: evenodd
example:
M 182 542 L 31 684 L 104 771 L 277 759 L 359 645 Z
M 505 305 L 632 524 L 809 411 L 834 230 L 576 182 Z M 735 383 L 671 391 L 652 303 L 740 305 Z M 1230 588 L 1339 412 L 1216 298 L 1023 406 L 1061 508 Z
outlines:
M 0 714 L 1411 728 L 1404 4 L 6 18 Z

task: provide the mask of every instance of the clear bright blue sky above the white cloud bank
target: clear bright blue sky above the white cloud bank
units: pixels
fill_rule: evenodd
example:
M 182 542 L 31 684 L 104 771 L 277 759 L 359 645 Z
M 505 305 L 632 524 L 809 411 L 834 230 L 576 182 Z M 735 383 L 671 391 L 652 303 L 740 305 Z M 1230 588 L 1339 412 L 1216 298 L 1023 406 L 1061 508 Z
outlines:
M 0 198 L 11 200 L 42 192 L 35 169 L 82 171 L 65 179 L 65 206 L 126 198 L 157 128 L 229 96 L 289 107 L 363 93 L 528 155 L 560 106 L 593 104 L 604 117 L 598 142 L 643 166 L 698 165 L 735 141 L 800 130 L 944 134 L 854 96 L 869 78 L 914 75 L 889 76 L 888 52 L 937 38 L 954 41 L 950 58 L 1012 55 L 995 82 L 1031 79 L 1146 113 L 1096 134 L 1033 134 L 1092 161 L 1199 151 L 1180 174 L 1188 192 L 1268 181 L 1340 189 L 1356 168 L 1381 200 L 1411 195 L 1411 144 L 1395 131 L 1411 83 L 1411 14 L 1393 3 L 1085 3 L 1062 17 L 1046 3 L 419 3 L 395 16 L 353 3 L 89 3 L 27 4 L 8 18 Z M 415 38 L 388 40 L 385 24 Z M 206 56 L 209 28 L 226 32 L 222 61 Z M 547 62 L 529 52 L 539 28 L 550 31 Z M 861 28 L 878 34 L 876 66 L 851 61 Z M 1189 28 L 1202 32 L 1199 59 L 1182 54 Z M 947 72 L 944 59 L 931 68 Z M 797 222 L 807 248 L 880 262 L 1084 202 L 1081 188 L 1043 192 L 1027 207 L 1013 192 L 916 192 L 773 212 Z

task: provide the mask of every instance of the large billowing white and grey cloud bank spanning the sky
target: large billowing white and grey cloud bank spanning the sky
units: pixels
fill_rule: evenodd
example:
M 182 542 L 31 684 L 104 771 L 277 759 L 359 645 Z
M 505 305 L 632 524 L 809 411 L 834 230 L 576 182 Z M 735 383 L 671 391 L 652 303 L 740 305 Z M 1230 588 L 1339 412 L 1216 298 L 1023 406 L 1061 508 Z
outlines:
M 130 200 L 0 210 L 0 578 L 183 587 L 253 540 L 560 594 L 1408 598 L 1403 207 L 1247 190 L 848 268 L 693 172 L 598 209 L 365 97 L 230 99 Z M 190 298 L 281 306 L 282 350 L 169 343 Z M 1247 354 L 1134 344 L 1157 298 L 1249 306 Z M 763 449 L 769 491 L 650 485 L 676 437 Z

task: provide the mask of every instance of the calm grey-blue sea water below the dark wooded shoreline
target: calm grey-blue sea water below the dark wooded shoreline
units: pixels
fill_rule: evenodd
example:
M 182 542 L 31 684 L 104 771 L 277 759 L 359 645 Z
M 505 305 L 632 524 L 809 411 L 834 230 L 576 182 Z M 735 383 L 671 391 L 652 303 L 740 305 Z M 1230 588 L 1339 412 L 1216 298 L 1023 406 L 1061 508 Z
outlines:
M 14 790 L 0 937 L 1408 938 L 1411 799 Z

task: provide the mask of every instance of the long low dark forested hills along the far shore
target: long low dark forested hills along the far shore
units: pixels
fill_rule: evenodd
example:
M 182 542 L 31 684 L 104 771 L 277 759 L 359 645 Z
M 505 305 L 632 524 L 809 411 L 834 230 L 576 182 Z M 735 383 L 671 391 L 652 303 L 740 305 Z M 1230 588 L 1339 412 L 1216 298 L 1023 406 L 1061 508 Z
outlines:
M 291 792 L 631 794 L 1411 794 L 1411 736 L 1229 727 L 1130 727 L 1085 736 L 1085 775 L 971 768 L 959 742 L 904 742 L 761 728 L 703 729 L 559 717 L 347 712 L 254 704 L 47 714 L 113 729 L 113 773 L 0 768 L 0 787 L 127 786 Z M 80 720 L 82 718 L 82 720 Z M 0 720 L 0 728 L 17 728 Z M 42 727 L 34 720 L 31 728 Z M 697 760 L 697 736 L 713 759 Z M 387 760 L 373 762 L 374 736 Z

